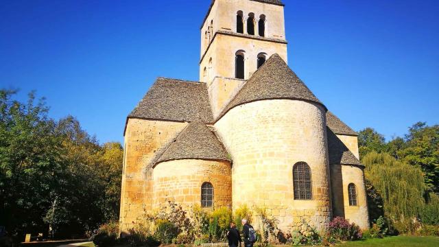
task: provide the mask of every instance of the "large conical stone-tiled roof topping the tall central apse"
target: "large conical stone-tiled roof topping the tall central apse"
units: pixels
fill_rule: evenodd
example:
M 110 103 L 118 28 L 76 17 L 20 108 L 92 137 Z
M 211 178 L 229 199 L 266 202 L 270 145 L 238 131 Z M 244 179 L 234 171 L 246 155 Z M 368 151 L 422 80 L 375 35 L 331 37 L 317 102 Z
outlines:
M 219 118 L 235 106 L 261 99 L 302 99 L 324 106 L 278 54 L 252 75 Z

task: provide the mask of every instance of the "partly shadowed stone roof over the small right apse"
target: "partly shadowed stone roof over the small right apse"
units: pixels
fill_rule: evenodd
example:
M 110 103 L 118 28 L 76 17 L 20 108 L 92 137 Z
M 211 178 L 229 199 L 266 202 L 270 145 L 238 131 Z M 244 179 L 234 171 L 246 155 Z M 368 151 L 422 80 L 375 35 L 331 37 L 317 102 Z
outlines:
M 361 165 L 355 155 L 349 151 L 340 139 L 332 132 L 330 128 L 327 128 L 328 136 L 328 151 L 329 151 L 329 165 Z

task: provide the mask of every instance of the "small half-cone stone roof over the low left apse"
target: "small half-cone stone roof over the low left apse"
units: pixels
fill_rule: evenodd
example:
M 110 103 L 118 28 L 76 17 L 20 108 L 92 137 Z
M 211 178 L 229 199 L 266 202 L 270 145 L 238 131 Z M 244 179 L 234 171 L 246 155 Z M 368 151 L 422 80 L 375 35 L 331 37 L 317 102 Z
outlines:
M 159 154 L 160 155 L 160 154 Z M 200 121 L 193 121 L 186 126 L 178 137 L 171 141 L 158 156 L 155 164 L 182 158 L 201 158 L 228 161 L 224 145 L 216 135 Z

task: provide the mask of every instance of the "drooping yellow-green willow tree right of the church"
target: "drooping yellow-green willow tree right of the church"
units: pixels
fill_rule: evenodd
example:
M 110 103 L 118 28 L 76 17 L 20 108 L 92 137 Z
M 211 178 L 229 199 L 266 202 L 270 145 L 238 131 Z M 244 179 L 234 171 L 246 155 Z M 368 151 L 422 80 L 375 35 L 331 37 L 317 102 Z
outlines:
M 420 217 L 425 209 L 423 172 L 390 154 L 370 152 L 362 158 L 366 179 L 383 198 L 384 215 L 393 221 Z

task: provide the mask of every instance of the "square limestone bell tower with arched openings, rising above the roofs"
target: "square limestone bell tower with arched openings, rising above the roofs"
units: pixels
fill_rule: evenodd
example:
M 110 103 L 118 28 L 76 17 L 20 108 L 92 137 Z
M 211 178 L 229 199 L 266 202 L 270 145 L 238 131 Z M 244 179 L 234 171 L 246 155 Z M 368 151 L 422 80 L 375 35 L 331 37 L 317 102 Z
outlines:
M 266 59 L 287 61 L 281 0 L 213 0 L 200 28 L 200 82 L 216 118 Z

